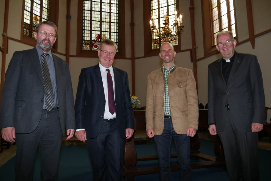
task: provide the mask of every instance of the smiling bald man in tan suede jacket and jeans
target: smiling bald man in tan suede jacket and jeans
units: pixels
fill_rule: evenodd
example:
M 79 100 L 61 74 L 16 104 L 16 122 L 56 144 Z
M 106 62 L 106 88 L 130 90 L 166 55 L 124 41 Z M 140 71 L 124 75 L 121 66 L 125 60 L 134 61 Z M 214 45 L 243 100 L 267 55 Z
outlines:
M 161 69 L 148 74 L 146 130 L 154 137 L 159 158 L 159 178 L 171 180 L 170 144 L 174 138 L 180 166 L 180 180 L 191 181 L 190 136 L 198 129 L 198 95 L 191 69 L 176 67 L 173 45 L 160 48 Z

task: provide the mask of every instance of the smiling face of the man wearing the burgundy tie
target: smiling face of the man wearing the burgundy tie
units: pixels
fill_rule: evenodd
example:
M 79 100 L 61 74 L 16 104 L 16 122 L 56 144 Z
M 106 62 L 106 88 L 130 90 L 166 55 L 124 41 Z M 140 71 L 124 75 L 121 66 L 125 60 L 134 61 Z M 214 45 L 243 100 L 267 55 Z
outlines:
M 109 53 L 104 54 L 103 51 L 116 53 L 116 48 L 111 45 L 103 44 L 101 46 L 101 50 L 98 50 L 99 62 L 105 68 L 111 67 L 115 58 L 115 54 L 114 55 L 110 55 Z

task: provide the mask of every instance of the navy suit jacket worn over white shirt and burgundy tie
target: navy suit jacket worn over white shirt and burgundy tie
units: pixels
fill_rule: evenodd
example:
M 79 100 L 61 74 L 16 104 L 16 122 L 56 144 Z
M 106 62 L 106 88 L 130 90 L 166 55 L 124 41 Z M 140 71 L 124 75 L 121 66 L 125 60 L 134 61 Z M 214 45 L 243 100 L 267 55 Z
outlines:
M 113 67 L 115 79 L 116 120 L 122 138 L 125 129 L 134 129 L 127 72 Z M 105 97 L 99 64 L 83 68 L 75 100 L 76 129 L 84 128 L 89 138 L 95 138 L 104 119 Z

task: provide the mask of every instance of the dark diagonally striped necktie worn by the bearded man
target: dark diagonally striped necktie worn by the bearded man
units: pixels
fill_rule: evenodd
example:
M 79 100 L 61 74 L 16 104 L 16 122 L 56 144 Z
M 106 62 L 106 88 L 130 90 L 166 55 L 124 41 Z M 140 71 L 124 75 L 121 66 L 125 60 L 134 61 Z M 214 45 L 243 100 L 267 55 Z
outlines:
M 44 94 L 45 94 L 45 108 L 48 111 L 52 111 L 55 107 L 54 104 L 54 92 L 52 81 L 49 73 L 49 68 L 45 57 L 49 55 L 46 53 L 42 54 L 42 74 L 43 74 L 43 83 L 44 83 Z

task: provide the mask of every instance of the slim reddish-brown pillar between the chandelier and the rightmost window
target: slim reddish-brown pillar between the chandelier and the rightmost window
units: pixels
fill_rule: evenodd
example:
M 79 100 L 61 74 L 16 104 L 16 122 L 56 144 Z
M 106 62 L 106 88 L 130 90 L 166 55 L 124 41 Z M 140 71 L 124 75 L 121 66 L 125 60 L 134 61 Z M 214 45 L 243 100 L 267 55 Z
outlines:
M 196 61 L 196 39 L 195 39 L 195 24 L 194 24 L 194 0 L 190 0 L 190 21 L 191 21 L 191 37 L 192 37 L 192 60 L 193 60 L 193 73 L 196 81 L 196 88 L 198 91 L 198 70 Z

